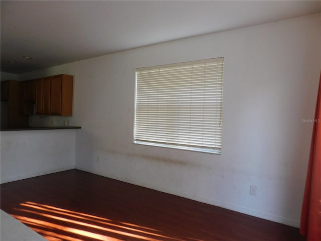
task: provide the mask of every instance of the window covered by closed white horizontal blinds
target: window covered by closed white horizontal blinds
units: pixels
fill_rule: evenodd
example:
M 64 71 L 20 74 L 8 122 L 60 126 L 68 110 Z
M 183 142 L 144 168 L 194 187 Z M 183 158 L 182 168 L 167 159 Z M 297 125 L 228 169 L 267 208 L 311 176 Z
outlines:
M 134 143 L 221 153 L 224 58 L 136 69 Z

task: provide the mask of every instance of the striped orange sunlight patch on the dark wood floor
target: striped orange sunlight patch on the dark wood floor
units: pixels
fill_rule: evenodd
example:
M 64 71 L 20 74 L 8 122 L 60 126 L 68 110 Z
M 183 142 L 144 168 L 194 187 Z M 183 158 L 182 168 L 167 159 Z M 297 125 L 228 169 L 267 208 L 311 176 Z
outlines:
M 81 237 L 92 241 L 122 241 L 128 238 L 145 241 L 185 241 L 164 235 L 150 227 L 35 202 L 20 203 L 20 208 L 15 210 L 19 215 L 12 216 L 49 241 L 81 241 Z

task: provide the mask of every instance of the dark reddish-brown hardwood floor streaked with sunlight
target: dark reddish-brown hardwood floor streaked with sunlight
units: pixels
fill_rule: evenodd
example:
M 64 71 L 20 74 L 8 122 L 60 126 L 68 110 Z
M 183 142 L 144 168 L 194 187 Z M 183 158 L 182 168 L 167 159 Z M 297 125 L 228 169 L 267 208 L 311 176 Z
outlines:
M 52 241 L 305 240 L 294 227 L 79 170 L 2 184 L 1 208 Z

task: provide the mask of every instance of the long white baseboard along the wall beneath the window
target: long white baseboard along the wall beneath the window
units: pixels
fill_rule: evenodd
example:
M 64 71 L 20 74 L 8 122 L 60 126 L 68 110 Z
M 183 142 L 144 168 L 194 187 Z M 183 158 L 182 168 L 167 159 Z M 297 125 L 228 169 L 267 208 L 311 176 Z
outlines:
M 132 180 L 132 179 L 128 179 L 128 178 L 125 178 L 125 177 L 120 177 L 120 176 L 116 176 L 116 175 L 113 175 L 113 174 L 106 175 L 106 174 L 104 174 L 102 172 L 99 172 L 99 171 L 96 171 L 96 170 L 89 170 L 89 169 L 79 168 L 79 167 L 76 167 L 76 169 L 81 170 L 81 171 L 85 171 L 85 172 L 90 172 L 90 173 L 93 173 L 93 174 L 97 174 L 99 176 L 109 177 L 109 178 L 112 178 L 112 179 L 116 179 L 116 180 L 123 181 L 123 182 L 126 182 L 126 183 L 134 184 L 134 185 L 137 185 L 137 186 L 150 188 L 150 189 L 153 189 L 153 190 L 156 190 L 156 191 L 161 191 L 161 192 L 173 194 L 173 195 L 176 195 L 176 196 L 192 199 L 192 200 L 195 200 L 195 201 L 211 204 L 211 205 L 214 205 L 214 206 L 226 208 L 226 209 L 229 209 L 229 210 L 232 210 L 232 211 L 236 211 L 236 212 L 240 212 L 240 213 L 244 213 L 244 214 L 247 214 L 247 215 L 250 215 L 250 216 L 259 217 L 259 218 L 263 218 L 263 219 L 270 220 L 270 221 L 273 221 L 273 222 L 282 223 L 282 224 L 289 225 L 289 226 L 292 226 L 292 227 L 299 227 L 299 225 L 300 225 L 299 220 L 295 220 L 295 219 L 279 216 L 279 215 L 276 215 L 274 213 L 268 213 L 268 212 L 260 211 L 260 210 L 257 210 L 257 209 L 252 209 L 252 208 L 248 208 L 248 207 L 244 207 L 244 206 L 240 206 L 240 205 L 235 205 L 235 204 L 232 204 L 232 203 L 225 203 L 225 202 L 222 202 L 220 200 L 216 200 L 216 199 L 212 199 L 212 198 L 208 198 L 208 197 L 202 197 L 202 196 L 194 195 L 194 194 L 191 194 L 191 193 L 180 192 L 180 191 L 172 190 L 172 189 L 168 189 L 168 188 L 162 188 L 162 187 L 159 187 L 159 186 L 153 186 L 153 185 L 146 186 L 144 183 L 141 183 L 141 182 L 139 182 L 137 180 Z

